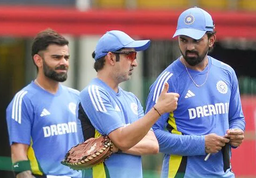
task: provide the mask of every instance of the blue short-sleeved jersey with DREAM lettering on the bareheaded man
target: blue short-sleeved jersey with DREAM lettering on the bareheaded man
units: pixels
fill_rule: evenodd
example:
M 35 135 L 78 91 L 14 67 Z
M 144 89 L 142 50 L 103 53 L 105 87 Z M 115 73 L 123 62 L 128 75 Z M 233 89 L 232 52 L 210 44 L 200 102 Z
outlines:
M 61 84 L 54 95 L 31 82 L 7 107 L 10 144 L 29 145 L 33 174 L 81 177 L 81 172 L 61 164 L 66 152 L 82 141 L 76 119 L 78 97 L 79 91 Z

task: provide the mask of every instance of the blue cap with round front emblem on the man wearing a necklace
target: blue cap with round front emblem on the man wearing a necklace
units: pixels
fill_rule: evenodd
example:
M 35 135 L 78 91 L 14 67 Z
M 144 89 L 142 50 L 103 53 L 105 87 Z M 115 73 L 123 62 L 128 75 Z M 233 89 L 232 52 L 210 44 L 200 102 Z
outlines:
M 199 40 L 209 31 L 213 32 L 214 22 L 212 16 L 199 7 L 192 7 L 185 10 L 178 18 L 178 24 L 174 36 L 186 35 Z

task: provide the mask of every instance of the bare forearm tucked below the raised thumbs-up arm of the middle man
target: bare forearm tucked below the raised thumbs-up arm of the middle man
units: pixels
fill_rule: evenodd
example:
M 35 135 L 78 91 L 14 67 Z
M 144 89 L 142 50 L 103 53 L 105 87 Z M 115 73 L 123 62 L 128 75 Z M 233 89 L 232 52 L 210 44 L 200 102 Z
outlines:
M 135 144 L 129 150 L 124 151 L 124 153 L 137 156 L 142 156 L 146 154 L 157 154 L 159 152 L 159 144 L 153 131 L 149 132 L 152 132 L 152 135 L 146 135 L 139 143 Z

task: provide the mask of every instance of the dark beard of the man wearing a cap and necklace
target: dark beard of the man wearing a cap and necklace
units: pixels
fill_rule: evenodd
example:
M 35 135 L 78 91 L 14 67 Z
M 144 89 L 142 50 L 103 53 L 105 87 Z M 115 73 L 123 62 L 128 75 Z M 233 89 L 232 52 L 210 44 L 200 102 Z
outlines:
M 205 56 L 208 53 L 209 48 L 206 48 L 203 52 L 202 55 L 199 55 L 199 53 L 197 51 L 189 51 L 186 50 L 185 55 L 183 54 L 183 52 L 180 50 L 180 52 L 182 53 L 183 58 L 186 60 L 187 64 L 189 64 L 190 66 L 195 66 L 199 63 L 201 63 L 202 60 L 204 60 Z M 193 53 L 195 55 L 197 55 L 197 57 L 188 57 L 187 53 Z

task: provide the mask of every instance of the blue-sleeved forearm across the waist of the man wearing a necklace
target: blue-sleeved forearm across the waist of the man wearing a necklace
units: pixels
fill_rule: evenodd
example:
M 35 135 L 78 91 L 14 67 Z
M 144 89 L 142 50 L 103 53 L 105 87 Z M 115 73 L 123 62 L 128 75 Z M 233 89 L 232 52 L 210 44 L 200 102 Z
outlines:
M 205 155 L 205 136 L 176 135 L 161 129 L 156 129 L 154 132 L 160 152 L 180 156 Z

